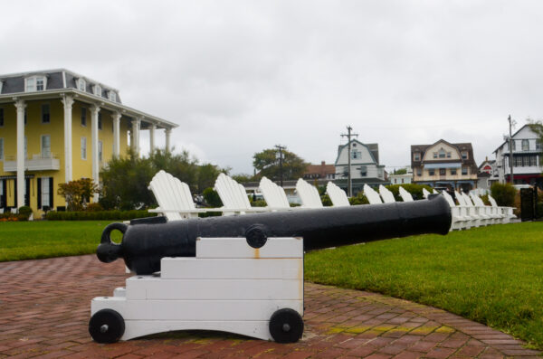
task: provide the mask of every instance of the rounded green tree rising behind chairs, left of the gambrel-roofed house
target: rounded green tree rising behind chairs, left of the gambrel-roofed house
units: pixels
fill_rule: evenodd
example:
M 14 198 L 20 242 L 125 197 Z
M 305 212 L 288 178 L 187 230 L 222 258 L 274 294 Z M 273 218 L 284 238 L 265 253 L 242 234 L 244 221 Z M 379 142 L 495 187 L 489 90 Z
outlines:
M 286 149 L 282 151 L 282 179 L 290 180 L 300 178 L 308 168 L 307 162 Z M 281 179 L 279 150 L 277 148 L 264 149 L 252 156 L 252 166 L 259 172 L 256 177 L 266 176 L 271 180 Z

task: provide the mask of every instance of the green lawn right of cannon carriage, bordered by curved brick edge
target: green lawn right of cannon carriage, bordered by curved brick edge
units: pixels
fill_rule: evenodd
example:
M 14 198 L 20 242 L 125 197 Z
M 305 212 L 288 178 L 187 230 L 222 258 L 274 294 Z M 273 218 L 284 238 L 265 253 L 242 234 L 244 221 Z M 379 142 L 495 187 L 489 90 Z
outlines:
M 314 251 L 305 278 L 440 307 L 543 348 L 543 222 Z

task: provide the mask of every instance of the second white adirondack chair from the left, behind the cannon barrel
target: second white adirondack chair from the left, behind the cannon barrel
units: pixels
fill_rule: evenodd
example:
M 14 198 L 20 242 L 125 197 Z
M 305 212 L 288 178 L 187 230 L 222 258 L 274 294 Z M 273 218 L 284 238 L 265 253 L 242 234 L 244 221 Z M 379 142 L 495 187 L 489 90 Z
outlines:
M 245 187 L 242 184 L 238 184 L 228 175 L 220 174 L 217 177 L 214 190 L 221 197 L 221 202 L 224 205 L 222 208 L 224 215 L 269 211 L 266 207 L 252 207 L 249 198 L 247 198 Z

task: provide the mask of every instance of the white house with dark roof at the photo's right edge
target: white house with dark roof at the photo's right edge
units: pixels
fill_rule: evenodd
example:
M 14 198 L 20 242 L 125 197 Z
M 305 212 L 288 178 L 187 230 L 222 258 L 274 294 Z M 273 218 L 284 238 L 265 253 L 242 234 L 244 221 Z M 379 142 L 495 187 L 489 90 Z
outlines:
M 493 179 L 500 183 L 510 182 L 510 144 L 503 142 L 494 151 L 496 156 L 496 173 Z M 514 184 L 538 185 L 543 189 L 543 167 L 541 156 L 543 148 L 538 135 L 524 125 L 512 136 L 513 180 Z

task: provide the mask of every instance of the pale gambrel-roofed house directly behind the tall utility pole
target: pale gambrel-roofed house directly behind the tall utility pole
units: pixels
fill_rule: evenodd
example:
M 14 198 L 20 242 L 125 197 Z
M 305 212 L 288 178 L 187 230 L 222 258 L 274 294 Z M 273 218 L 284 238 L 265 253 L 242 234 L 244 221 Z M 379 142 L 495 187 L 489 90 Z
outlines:
M 385 165 L 379 165 L 379 146 L 377 144 L 363 144 L 353 139 L 350 142 L 351 150 L 348 153 L 348 144 L 338 146 L 336 158 L 336 184 L 346 189 L 348 181 L 348 157 L 350 156 L 351 183 L 353 194 L 362 191 L 364 184 L 384 184 L 386 181 Z

